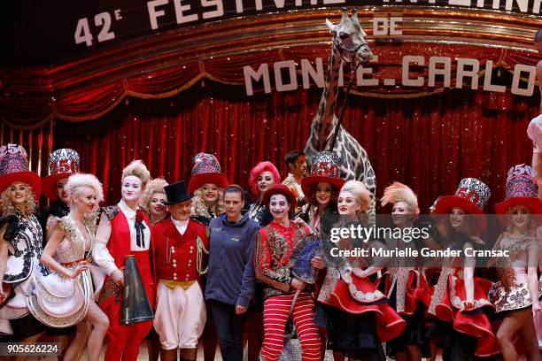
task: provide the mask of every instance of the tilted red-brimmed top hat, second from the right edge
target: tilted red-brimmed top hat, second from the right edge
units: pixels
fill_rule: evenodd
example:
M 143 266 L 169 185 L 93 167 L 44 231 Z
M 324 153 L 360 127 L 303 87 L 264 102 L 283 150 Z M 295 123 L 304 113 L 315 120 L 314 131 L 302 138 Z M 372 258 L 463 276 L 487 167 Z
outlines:
M 487 219 L 484 217 L 484 205 L 490 196 L 492 196 L 492 192 L 482 180 L 464 178 L 460 181 L 454 196 L 442 196 L 438 199 L 435 205 L 435 213 L 446 214 L 452 211 L 454 207 L 461 208 L 469 214 L 477 215 L 475 219 L 478 230 L 484 232 L 487 227 Z

